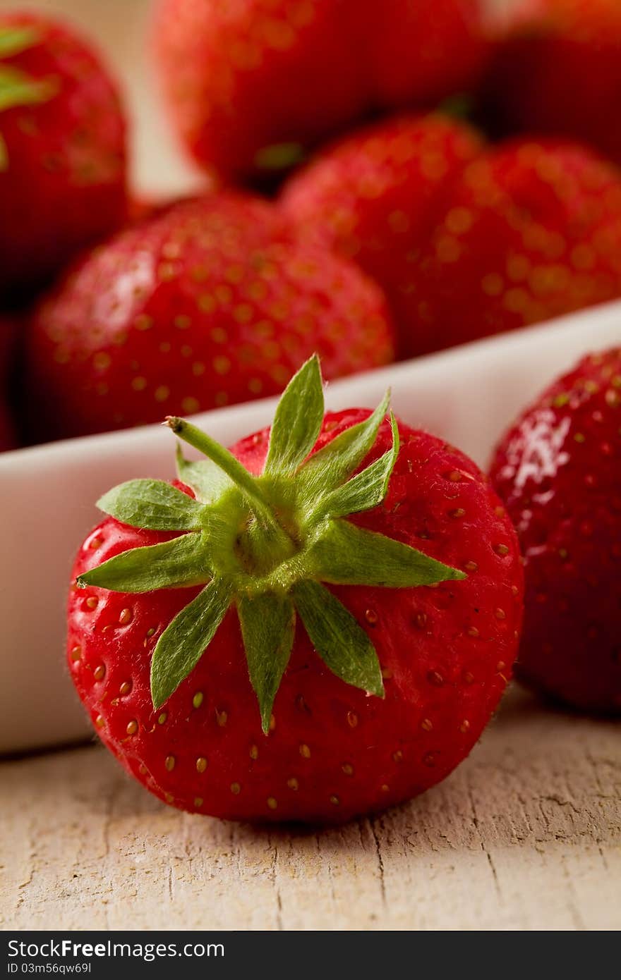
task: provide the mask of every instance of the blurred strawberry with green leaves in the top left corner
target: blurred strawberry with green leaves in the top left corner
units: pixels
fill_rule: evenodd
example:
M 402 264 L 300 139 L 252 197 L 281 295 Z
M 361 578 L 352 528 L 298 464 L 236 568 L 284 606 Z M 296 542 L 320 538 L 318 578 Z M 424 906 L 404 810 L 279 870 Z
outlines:
M 38 283 L 126 212 L 117 90 L 73 29 L 0 12 L 0 294 Z

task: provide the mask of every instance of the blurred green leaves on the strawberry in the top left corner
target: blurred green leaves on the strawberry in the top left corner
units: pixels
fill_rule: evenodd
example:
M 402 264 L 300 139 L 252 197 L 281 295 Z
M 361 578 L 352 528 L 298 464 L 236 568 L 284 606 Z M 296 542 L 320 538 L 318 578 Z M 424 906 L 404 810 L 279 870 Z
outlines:
M 41 41 L 36 27 L 0 24 L 0 113 L 16 106 L 31 106 L 48 102 L 58 91 L 56 79 L 32 78 L 21 69 L 3 64 Z M 9 166 L 7 146 L 0 133 L 0 172 Z

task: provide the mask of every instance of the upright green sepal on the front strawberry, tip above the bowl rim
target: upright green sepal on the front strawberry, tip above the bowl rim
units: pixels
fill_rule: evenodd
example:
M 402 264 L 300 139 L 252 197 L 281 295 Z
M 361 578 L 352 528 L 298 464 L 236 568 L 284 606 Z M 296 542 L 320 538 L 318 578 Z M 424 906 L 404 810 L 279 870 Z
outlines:
M 278 404 L 264 472 L 294 473 L 317 442 L 323 420 L 324 391 L 315 354 L 291 378 Z

